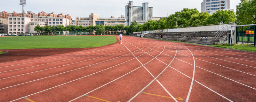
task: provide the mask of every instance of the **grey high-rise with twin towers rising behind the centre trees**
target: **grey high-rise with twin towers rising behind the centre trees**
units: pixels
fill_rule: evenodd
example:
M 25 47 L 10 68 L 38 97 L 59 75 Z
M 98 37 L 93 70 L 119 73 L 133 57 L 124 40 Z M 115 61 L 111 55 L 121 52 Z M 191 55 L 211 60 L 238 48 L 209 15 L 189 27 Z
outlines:
M 147 21 L 153 17 L 153 7 L 148 7 L 148 3 L 142 3 L 142 6 L 133 6 L 129 1 L 125 6 L 126 25 L 131 25 L 135 21 Z

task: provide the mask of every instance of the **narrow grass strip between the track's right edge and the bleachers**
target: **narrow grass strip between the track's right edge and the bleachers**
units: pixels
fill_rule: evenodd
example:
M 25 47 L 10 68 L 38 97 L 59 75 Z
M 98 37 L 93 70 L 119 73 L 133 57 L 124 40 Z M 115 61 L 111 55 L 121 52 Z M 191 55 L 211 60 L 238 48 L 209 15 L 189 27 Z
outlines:
M 148 39 L 152 39 L 152 38 L 148 38 Z M 156 39 L 156 40 L 160 40 L 160 39 Z M 165 41 L 170 41 L 170 40 L 165 40 Z M 172 41 L 172 42 L 179 42 L 179 43 L 186 43 L 186 44 L 193 44 L 193 45 L 202 45 L 202 44 L 195 44 L 195 43 L 181 42 L 181 41 Z M 219 48 L 228 48 L 228 49 L 256 52 L 256 46 L 253 46 L 253 45 L 219 44 L 219 45 L 202 45 L 202 46 L 210 46 L 210 47 L 219 47 Z

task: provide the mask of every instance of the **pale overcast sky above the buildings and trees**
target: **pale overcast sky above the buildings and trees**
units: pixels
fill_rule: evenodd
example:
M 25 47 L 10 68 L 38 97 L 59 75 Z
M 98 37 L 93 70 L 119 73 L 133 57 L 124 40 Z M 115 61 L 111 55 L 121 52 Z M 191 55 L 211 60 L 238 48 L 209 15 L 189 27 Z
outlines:
M 22 6 L 20 0 L 0 0 L 0 12 L 21 13 Z M 116 18 L 124 15 L 124 6 L 129 0 L 27 0 L 24 11 L 39 13 L 54 12 L 55 14 L 70 14 L 74 19 L 76 17 L 89 17 L 90 13 L 100 14 L 101 18 Z M 181 11 L 183 8 L 196 8 L 201 12 L 201 3 L 203 0 L 133 0 L 133 6 L 142 6 L 142 3 L 148 2 L 148 6 L 153 7 L 153 17 L 166 17 Z M 236 12 L 236 5 L 240 0 L 230 0 L 230 9 Z

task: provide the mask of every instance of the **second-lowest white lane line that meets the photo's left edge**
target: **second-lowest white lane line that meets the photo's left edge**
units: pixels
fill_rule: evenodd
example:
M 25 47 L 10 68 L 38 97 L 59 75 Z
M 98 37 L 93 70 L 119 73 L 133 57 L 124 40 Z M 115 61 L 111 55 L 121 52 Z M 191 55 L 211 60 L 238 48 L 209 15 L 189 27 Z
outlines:
M 123 50 L 123 51 L 125 51 L 125 50 Z M 119 51 L 119 52 L 122 52 L 122 51 Z M 119 52 L 116 52 L 116 53 L 119 53 Z M 113 53 L 113 54 L 116 54 L 116 53 Z M 112 55 L 112 54 L 109 54 L 109 55 Z M 100 57 L 104 57 L 104 56 L 107 56 L 107 55 L 103 55 Z M 100 57 L 96 57 L 96 58 L 100 58 Z M 92 59 L 96 59 L 96 58 L 92 58 Z M 92 59 L 88 59 L 88 60 L 92 60 Z M 88 60 L 84 60 L 84 61 L 88 61 Z M 84 62 L 84 61 L 80 61 L 80 62 Z M 75 62 L 75 63 L 80 63 L 80 62 Z M 63 67 L 63 66 L 67 66 L 67 65 L 71 65 L 71 64 L 75 64 L 75 63 L 65 64 L 65 65 L 61 65 L 58 67 Z M 54 68 L 58 68 L 58 67 L 53 67 L 53 68 L 49 68 L 49 69 L 54 69 Z M 44 70 L 49 70 L 49 69 L 44 69 Z M 34 71 L 34 72 L 26 73 L 26 74 L 36 73 L 36 72 L 40 72 L 40 71 L 44 71 L 44 70 Z M 26 74 L 21 74 L 21 75 L 12 76 L 12 77 L 18 77 L 18 76 L 22 76 L 22 75 L 26 75 Z M 11 78 L 11 77 L 2 78 L 0 80 L 7 79 L 7 78 Z

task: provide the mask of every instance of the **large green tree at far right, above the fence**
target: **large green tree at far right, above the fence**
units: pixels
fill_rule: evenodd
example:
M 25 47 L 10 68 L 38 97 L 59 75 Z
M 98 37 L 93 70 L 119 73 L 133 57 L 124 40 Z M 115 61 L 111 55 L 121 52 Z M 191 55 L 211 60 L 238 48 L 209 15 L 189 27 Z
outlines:
M 236 24 L 256 24 L 256 0 L 241 0 L 236 6 Z

